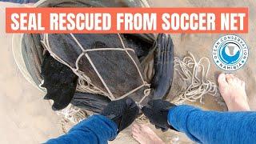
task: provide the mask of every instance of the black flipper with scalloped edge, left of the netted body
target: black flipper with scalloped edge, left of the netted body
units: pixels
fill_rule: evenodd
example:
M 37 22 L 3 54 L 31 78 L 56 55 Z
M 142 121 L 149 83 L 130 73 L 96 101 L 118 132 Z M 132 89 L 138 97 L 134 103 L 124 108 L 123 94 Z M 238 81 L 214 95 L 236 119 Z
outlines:
M 76 90 L 78 76 L 47 52 L 42 62 L 43 87 L 47 94 L 44 99 L 54 100 L 53 110 L 62 110 L 69 105 Z

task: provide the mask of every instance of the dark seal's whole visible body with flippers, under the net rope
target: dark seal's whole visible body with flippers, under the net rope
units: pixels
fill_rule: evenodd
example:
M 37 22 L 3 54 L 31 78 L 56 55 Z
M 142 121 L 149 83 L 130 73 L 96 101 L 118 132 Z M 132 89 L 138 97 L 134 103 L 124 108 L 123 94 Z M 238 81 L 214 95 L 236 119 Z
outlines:
M 78 39 L 78 42 L 81 42 L 84 49 L 122 48 L 118 34 L 74 34 L 74 36 Z M 170 36 L 166 37 L 166 34 L 158 34 L 155 43 L 145 41 L 143 38 L 136 37 L 133 34 L 122 34 L 121 36 L 126 48 L 131 48 L 135 51 L 135 53 L 129 51 L 129 54 L 141 72 L 140 60 L 145 58 L 150 50 L 155 52 L 155 74 L 151 82 L 152 90 L 150 96 L 142 104 L 153 98 L 164 98 L 169 93 L 173 77 L 174 45 Z M 67 62 L 70 67 L 76 68 L 75 62 L 78 56 L 82 54 L 82 50 L 74 42 L 74 39 L 69 34 L 50 34 L 49 38 L 52 52 Z M 143 84 L 134 62 L 131 61 L 125 51 L 104 50 L 92 51 L 87 54 L 115 98 L 119 98 Z M 85 56 L 82 56 L 78 61 L 78 66 L 79 70 L 90 78 L 94 86 L 107 92 L 98 74 L 95 73 L 94 68 Z M 47 89 L 46 98 L 54 100 L 53 108 L 55 110 L 66 107 L 73 97 L 71 103 L 74 106 L 96 113 L 110 102 L 109 98 L 99 94 L 74 94 L 77 76 L 69 67 L 51 58 L 50 54 L 44 56 L 42 76 L 45 79 L 44 86 Z M 130 94 L 130 98 L 139 102 L 144 97 L 143 92 L 146 88 L 144 86 Z

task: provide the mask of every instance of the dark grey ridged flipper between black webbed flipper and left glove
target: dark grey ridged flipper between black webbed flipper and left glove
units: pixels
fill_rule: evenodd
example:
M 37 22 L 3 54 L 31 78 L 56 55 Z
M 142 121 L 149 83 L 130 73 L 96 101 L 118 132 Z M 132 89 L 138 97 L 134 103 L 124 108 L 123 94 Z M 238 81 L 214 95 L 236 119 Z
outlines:
M 72 98 L 72 105 L 78 106 L 83 110 L 90 110 L 94 113 L 100 113 L 111 102 L 110 98 L 100 94 L 75 93 Z

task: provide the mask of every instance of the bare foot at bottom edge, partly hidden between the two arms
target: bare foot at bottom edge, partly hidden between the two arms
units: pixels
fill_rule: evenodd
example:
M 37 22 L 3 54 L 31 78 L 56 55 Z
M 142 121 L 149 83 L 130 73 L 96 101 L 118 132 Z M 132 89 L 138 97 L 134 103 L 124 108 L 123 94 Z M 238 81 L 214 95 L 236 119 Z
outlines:
M 154 133 L 150 127 L 134 124 L 132 126 L 132 134 L 133 137 L 141 144 L 163 144 L 162 139 L 158 137 L 157 134 Z

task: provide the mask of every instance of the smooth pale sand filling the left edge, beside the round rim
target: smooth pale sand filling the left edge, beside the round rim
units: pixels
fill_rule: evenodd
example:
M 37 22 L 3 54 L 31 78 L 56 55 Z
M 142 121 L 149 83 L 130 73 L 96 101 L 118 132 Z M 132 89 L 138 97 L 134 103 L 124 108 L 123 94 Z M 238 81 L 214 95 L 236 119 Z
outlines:
M 5 6 L 0 2 L 0 143 L 40 143 L 62 134 L 60 118 L 18 70 L 5 34 Z

